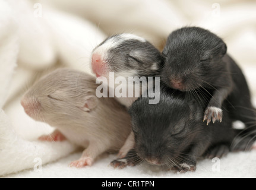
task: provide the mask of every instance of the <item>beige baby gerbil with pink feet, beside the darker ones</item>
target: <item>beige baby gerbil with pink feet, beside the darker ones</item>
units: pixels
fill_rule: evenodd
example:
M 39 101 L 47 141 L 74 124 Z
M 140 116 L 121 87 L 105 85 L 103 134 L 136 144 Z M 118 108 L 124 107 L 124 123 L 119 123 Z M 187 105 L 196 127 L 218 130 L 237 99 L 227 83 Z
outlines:
M 115 99 L 97 98 L 96 78 L 58 69 L 40 79 L 21 100 L 25 112 L 57 130 L 40 140 L 64 140 L 86 148 L 71 166 L 91 166 L 106 151 L 118 151 L 131 132 L 127 109 Z

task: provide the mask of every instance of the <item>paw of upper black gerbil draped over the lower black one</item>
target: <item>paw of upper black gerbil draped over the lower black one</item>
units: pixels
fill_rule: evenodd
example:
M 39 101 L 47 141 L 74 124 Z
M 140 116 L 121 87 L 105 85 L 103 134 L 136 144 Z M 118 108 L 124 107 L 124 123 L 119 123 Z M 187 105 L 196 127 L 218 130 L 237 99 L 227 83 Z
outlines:
M 219 107 L 207 107 L 206 112 L 204 112 L 204 121 L 207 121 L 207 125 L 213 121 L 213 124 L 216 121 L 222 122 L 222 109 Z

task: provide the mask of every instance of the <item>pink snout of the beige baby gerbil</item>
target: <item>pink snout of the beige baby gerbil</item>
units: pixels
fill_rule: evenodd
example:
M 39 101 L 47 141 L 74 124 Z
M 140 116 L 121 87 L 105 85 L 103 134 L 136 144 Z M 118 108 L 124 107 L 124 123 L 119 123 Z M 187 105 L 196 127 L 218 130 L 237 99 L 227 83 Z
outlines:
M 27 97 L 23 97 L 21 99 L 21 106 L 23 106 L 24 111 L 29 115 L 31 118 L 34 118 L 38 110 L 40 109 L 40 102 L 35 99 L 29 99 Z M 35 118 L 34 118 L 35 119 Z

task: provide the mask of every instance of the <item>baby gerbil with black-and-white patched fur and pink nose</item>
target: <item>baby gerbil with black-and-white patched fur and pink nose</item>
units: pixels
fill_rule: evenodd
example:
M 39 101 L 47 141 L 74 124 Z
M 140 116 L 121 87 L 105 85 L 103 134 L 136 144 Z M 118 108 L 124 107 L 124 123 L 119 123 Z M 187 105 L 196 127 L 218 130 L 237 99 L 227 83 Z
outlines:
M 126 97 L 115 97 L 118 102 L 127 108 L 143 93 L 140 88 L 139 96 L 129 97 L 128 77 L 158 76 L 159 68 L 163 65 L 162 55 L 150 42 L 134 34 L 116 34 L 100 43 L 91 53 L 91 68 L 97 77 L 106 77 L 110 80 L 124 77 L 127 83 Z M 109 73 L 113 72 L 111 78 Z M 138 82 L 140 83 L 140 82 Z M 118 84 L 119 85 L 119 84 Z M 132 83 L 132 86 L 134 83 Z M 115 88 L 112 86 L 112 88 Z M 110 85 L 109 85 L 109 88 Z M 133 88 L 133 87 L 132 87 Z M 134 90 L 135 93 L 135 90 Z M 124 157 L 134 145 L 134 135 L 131 133 L 124 147 L 119 151 L 119 157 Z

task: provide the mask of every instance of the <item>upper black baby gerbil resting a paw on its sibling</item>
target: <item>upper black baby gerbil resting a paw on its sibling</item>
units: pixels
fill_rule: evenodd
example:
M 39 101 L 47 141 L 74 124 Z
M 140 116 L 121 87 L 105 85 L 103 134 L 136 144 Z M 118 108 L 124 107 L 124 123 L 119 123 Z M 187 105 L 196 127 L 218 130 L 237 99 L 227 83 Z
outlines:
M 173 31 L 162 55 L 165 65 L 161 79 L 171 88 L 213 96 L 204 111 L 203 120 L 222 121 L 222 103 L 227 99 L 230 118 L 255 122 L 255 109 L 245 76 L 226 54 L 227 46 L 220 37 L 200 27 L 184 27 Z M 254 129 L 248 129 L 255 131 Z

